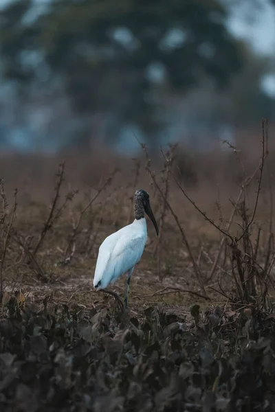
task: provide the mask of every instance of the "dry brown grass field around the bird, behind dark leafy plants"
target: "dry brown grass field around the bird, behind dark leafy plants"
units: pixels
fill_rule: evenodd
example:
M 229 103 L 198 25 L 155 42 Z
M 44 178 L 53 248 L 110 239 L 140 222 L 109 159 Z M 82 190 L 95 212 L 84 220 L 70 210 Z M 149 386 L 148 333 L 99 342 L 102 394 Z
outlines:
M 199 209 L 226 230 L 241 182 L 257 168 L 260 145 L 258 159 L 254 162 L 245 159 L 243 152 L 234 150 L 228 155 L 221 152 L 190 154 L 193 161 L 187 162 L 187 172 L 183 167 L 187 163 L 182 151 L 177 149 L 174 155 L 171 170 L 181 187 L 187 187 L 188 196 Z M 266 160 L 261 196 L 249 233 L 250 246 L 257 254 L 256 264 L 265 271 L 267 266 L 270 268 L 270 279 L 266 277 L 262 283 L 256 280 L 255 299 L 264 293 L 263 284 L 267 283 L 268 294 L 273 295 L 274 187 L 270 179 L 273 157 L 271 152 L 270 159 Z M 153 225 L 148 222 L 148 244 L 131 281 L 131 310 L 160 305 L 183 311 L 195 302 L 202 307 L 215 305 L 234 295 L 236 283 L 232 277 L 230 241 L 225 241 L 217 268 L 212 273 L 223 235 L 186 200 L 168 172 L 167 164 L 163 166 L 166 162 L 161 155 L 153 157 L 149 166 L 144 155 L 132 161 L 109 152 L 66 153 L 63 159 L 66 159 L 65 171 L 61 170 L 55 176 L 60 157 L 5 155 L 1 158 L 0 176 L 4 179 L 8 199 L 3 224 L 5 234 L 14 208 L 13 190 L 18 189 L 16 214 L 12 218 L 3 262 L 5 290 L 21 289 L 38 299 L 53 293 L 58 302 L 74 300 L 86 307 L 113 306 L 111 297 L 96 293 L 92 288 L 98 247 L 106 236 L 133 219 L 132 196 L 141 187 L 151 196 L 152 209 L 162 226 L 162 236 L 157 240 Z M 119 171 L 116 170 L 118 167 Z M 191 169 L 197 176 L 195 185 L 189 179 Z M 259 187 L 257 179 L 259 173 L 241 197 L 241 200 L 245 198 L 249 209 L 248 217 L 254 210 Z M 170 209 L 166 207 L 167 201 Z M 177 222 L 173 214 L 177 216 Z M 241 235 L 242 227 L 240 211 L 239 216 L 234 216 L 230 236 Z M 181 230 L 184 230 L 190 253 Z M 239 248 L 244 255 L 247 253 L 243 240 L 240 240 Z M 190 256 L 197 265 L 199 281 Z M 122 277 L 112 288 L 124 293 L 125 283 L 126 278 Z M 207 297 L 203 297 L 203 288 Z

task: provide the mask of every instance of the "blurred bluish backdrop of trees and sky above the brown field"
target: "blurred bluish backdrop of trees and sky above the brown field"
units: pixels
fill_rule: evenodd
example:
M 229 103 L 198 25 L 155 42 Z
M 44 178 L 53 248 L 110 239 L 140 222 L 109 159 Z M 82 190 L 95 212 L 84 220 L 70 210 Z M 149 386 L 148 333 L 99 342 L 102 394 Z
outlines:
M 1 151 L 253 139 L 275 121 L 274 14 L 272 0 L 1 1 Z

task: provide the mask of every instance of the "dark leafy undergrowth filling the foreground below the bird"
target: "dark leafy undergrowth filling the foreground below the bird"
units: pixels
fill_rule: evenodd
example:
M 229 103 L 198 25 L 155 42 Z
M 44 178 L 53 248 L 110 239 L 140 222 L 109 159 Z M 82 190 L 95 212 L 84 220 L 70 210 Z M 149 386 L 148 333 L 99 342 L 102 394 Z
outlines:
M 275 315 L 4 299 L 1 411 L 274 411 Z

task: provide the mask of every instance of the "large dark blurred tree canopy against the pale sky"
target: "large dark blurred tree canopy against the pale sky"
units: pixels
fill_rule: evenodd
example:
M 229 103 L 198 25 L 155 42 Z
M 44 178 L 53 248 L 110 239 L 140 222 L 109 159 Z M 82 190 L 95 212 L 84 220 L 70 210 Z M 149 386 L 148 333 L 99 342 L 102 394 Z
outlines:
M 1 12 L 1 70 L 23 90 L 58 80 L 78 113 L 110 119 L 109 139 L 125 124 L 153 139 L 162 87 L 182 93 L 201 76 L 225 87 L 241 68 L 226 18 L 218 0 L 52 0 L 42 10 L 17 0 Z

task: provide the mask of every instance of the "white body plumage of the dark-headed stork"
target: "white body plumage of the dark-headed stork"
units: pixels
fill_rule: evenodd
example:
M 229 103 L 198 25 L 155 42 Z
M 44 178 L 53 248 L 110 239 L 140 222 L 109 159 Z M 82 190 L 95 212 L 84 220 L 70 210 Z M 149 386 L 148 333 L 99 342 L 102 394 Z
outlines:
M 147 239 L 145 218 L 135 219 L 131 225 L 112 233 L 100 245 L 94 287 L 107 288 L 120 275 L 129 271 L 140 261 Z

